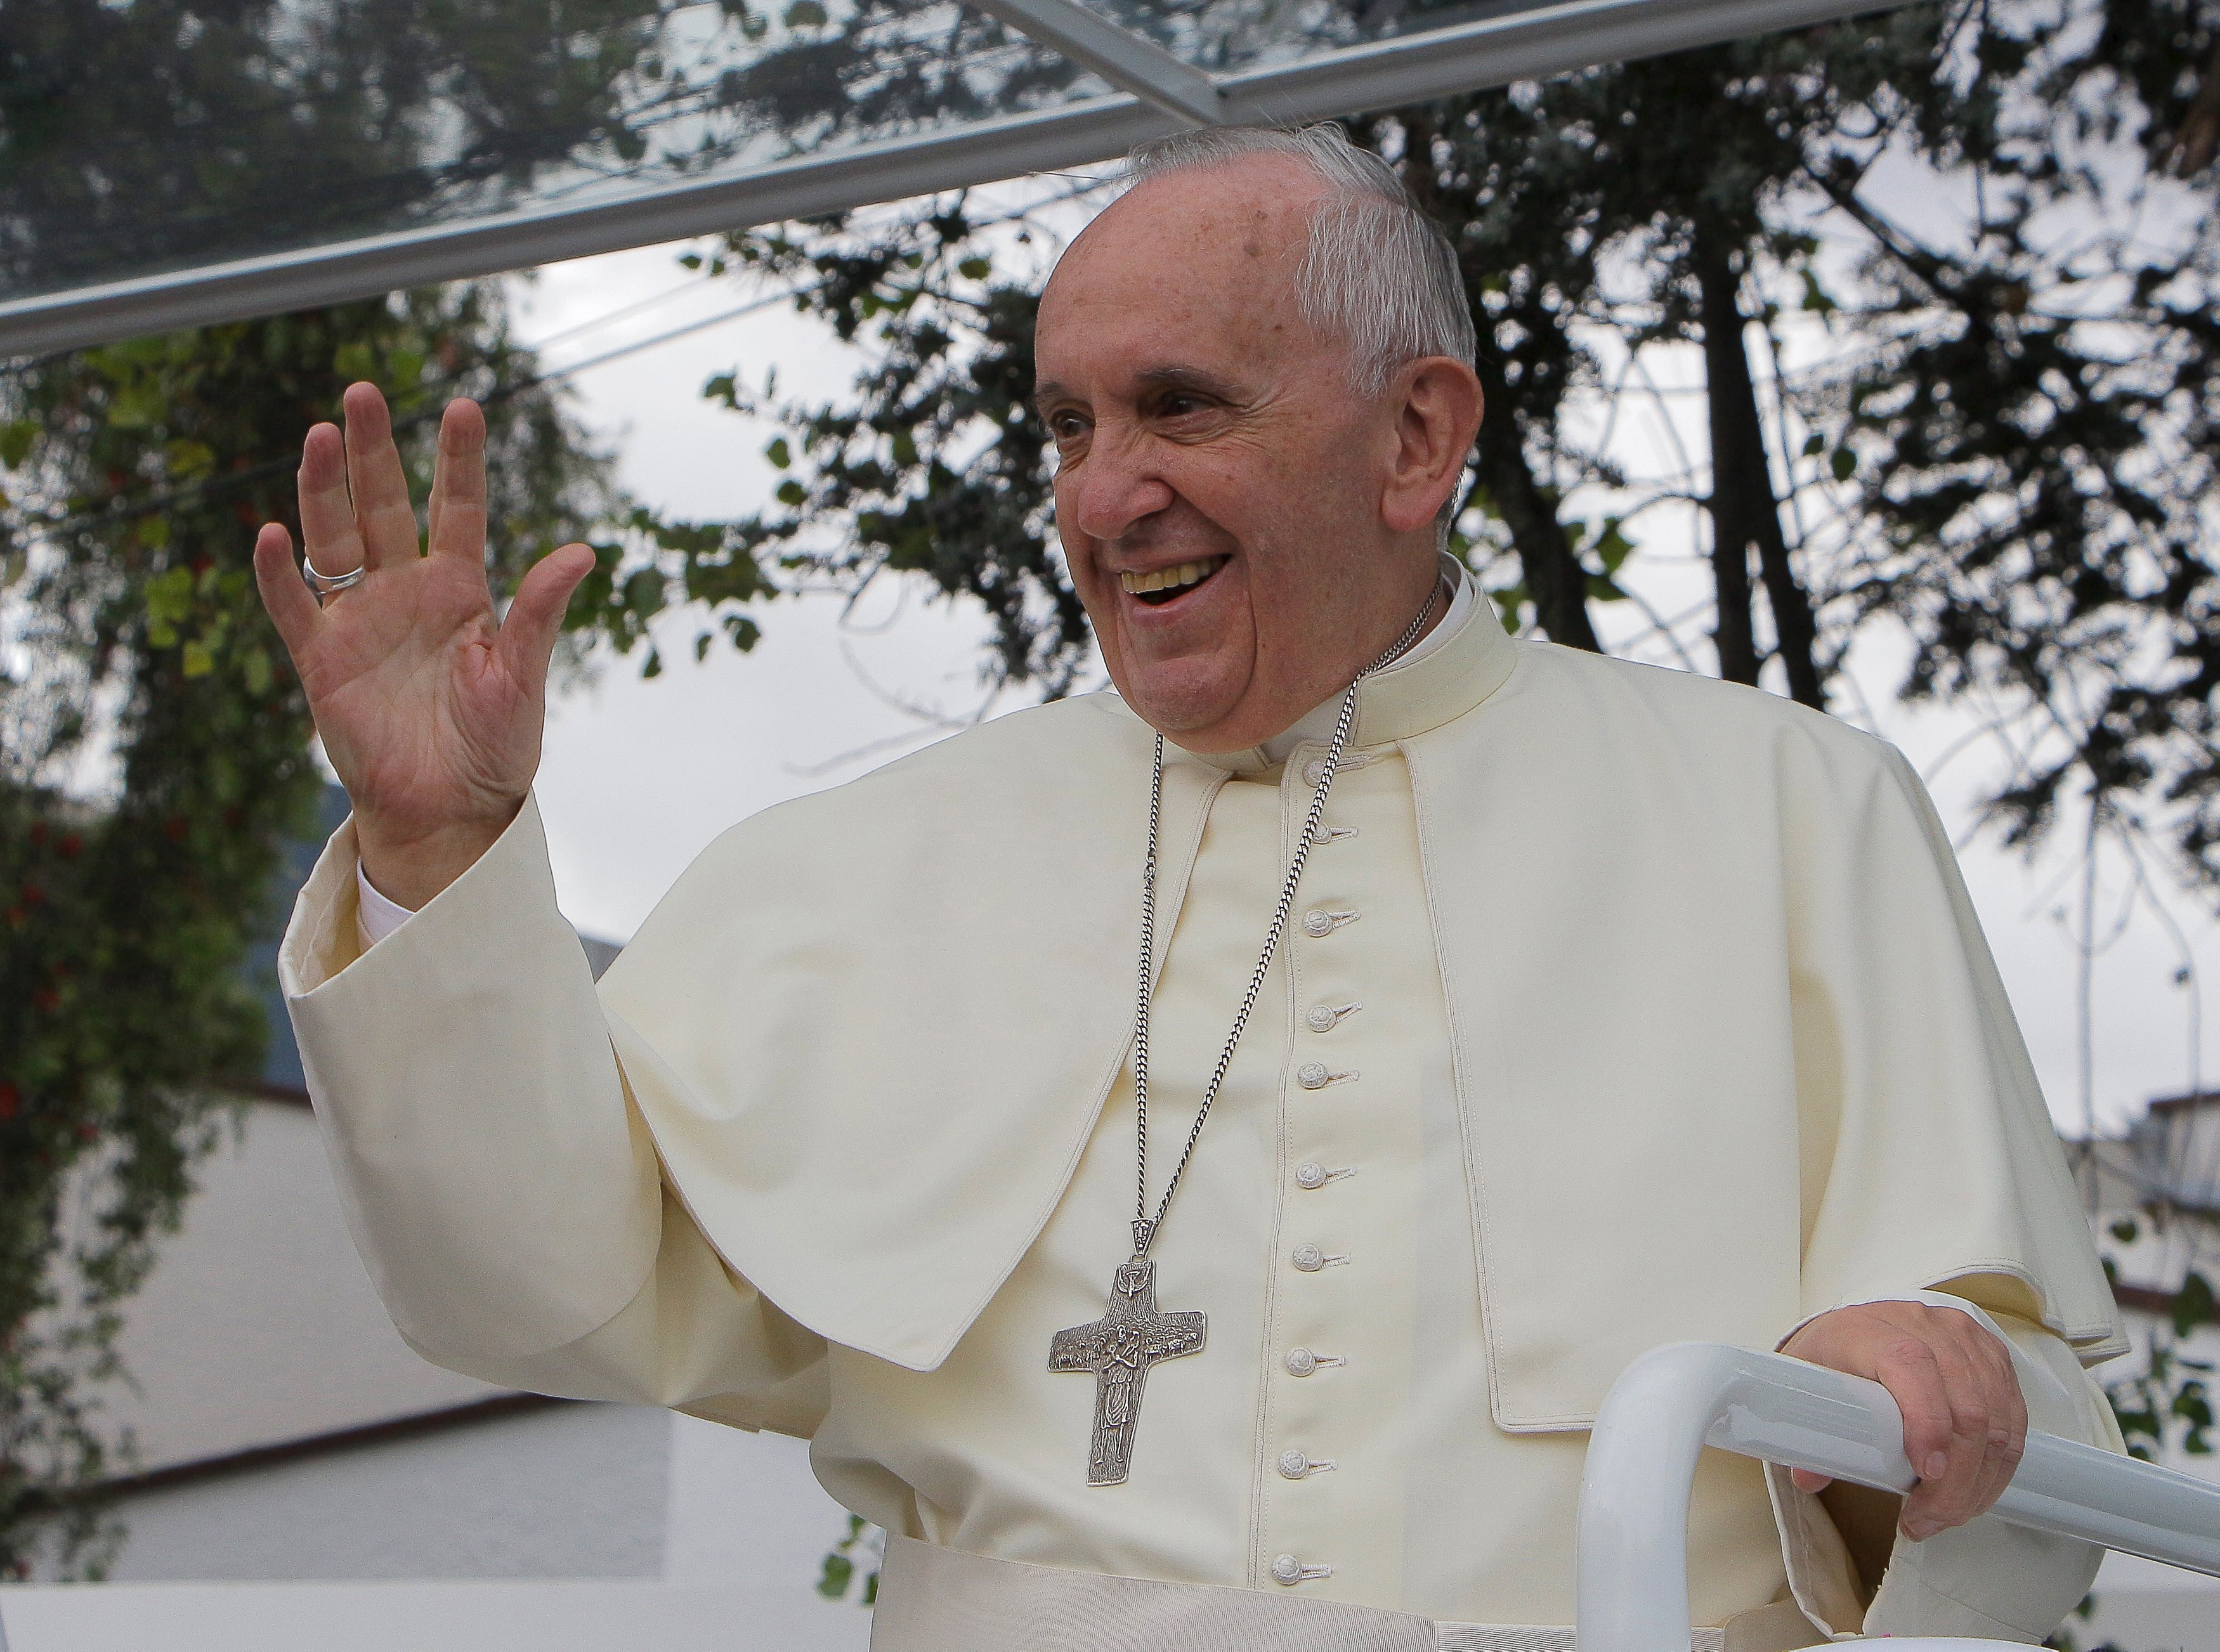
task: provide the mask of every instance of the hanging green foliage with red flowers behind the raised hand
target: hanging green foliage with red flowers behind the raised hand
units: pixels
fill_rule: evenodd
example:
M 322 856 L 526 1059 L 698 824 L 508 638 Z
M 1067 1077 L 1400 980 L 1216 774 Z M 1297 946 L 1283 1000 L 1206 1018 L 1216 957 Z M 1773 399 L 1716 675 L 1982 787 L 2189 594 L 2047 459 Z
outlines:
M 255 524 L 349 380 L 395 402 L 415 482 L 448 391 L 488 400 L 504 584 L 615 511 L 606 460 L 491 286 L 206 326 L 16 366 L 0 677 L 0 1574 L 98 1572 L 95 1390 L 175 1226 L 222 1086 L 260 1070 L 238 961 L 320 775 L 253 591 Z M 271 457 L 280 455 L 280 457 Z M 584 602 L 577 624 L 613 624 Z M 44 1537 L 42 1537 L 44 1534 Z

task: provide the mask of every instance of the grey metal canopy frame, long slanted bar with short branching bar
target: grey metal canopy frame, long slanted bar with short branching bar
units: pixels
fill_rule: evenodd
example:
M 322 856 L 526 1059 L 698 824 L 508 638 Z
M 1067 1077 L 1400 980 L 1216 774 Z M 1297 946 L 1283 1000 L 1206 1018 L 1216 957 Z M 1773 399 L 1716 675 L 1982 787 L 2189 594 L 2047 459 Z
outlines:
M 1072 22 L 1063 0 L 975 0 L 1012 27 L 1061 24 L 1074 60 L 1106 78 L 1148 84 L 1063 109 L 977 122 L 952 133 L 899 138 L 846 153 L 759 167 L 637 195 L 524 209 L 462 224 L 371 235 L 291 253 L 0 304 L 0 355 L 78 349 L 178 326 L 275 315 L 369 298 L 397 286 L 464 280 L 688 235 L 810 218 L 872 202 L 963 189 L 1030 171 L 1083 167 L 1143 138 L 1192 127 L 1192 84 L 1159 73 L 1154 44 L 1110 24 Z M 1510 80 L 1714 44 L 1749 33 L 1883 11 L 1900 0 L 1563 0 L 1312 60 L 1210 80 L 1234 120 L 1325 120 L 1479 91 Z M 1086 13 L 1081 13 L 1086 16 Z M 1030 29 L 1028 29 L 1030 33 Z M 1110 38 L 1114 36 L 1114 40 Z M 1081 58 L 1079 53 L 1092 53 Z M 1114 71 L 1114 73 L 1112 73 Z M 1181 113 L 1168 113 L 1177 109 Z

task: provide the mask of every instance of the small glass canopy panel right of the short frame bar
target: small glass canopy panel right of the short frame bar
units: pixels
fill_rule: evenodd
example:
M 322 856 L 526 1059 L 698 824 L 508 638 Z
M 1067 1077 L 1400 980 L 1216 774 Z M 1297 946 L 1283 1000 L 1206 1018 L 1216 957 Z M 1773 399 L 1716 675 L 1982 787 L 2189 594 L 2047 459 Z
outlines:
M 1079 0 L 1079 4 L 1214 75 L 1279 69 L 1323 51 L 1405 40 L 1463 22 L 1543 9 L 1541 0 Z

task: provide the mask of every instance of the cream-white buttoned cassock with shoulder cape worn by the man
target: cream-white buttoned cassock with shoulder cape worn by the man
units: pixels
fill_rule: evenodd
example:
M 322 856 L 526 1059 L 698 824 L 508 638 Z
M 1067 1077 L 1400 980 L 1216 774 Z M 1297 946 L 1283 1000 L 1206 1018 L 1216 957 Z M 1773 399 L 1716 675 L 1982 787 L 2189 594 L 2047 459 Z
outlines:
M 1359 688 L 1152 1250 L 1210 1330 L 1152 1372 L 1126 1485 L 1088 1485 L 1094 1381 L 1048 1370 L 1134 1215 L 1150 731 L 1114 695 L 733 828 L 599 997 L 531 804 L 369 953 L 342 826 L 282 968 L 402 1334 L 804 1434 L 941 1550 L 1485 1625 L 1572 1621 L 1585 1428 L 1656 1343 L 1943 1290 L 2036 1428 L 2118 1448 L 2078 1363 L 2120 1350 L 2111 1297 L 1903 757 L 1461 608 Z M 1166 748 L 1152 1199 L 1321 751 Z M 1827 1632 L 2040 1639 L 2096 1565 L 1976 1521 L 1867 1601 L 1818 1501 L 1721 1454 L 1689 1521 L 1698 1625 L 1794 1590 Z

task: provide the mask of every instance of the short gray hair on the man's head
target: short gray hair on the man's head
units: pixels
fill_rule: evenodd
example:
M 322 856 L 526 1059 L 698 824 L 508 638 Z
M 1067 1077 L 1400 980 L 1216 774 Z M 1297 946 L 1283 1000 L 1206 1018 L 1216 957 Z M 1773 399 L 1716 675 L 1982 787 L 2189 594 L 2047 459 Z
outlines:
M 1472 364 L 1479 338 L 1450 238 L 1394 167 L 1352 144 L 1341 127 L 1199 127 L 1152 138 L 1126 155 L 1126 182 L 1250 155 L 1294 155 L 1330 189 L 1310 218 L 1294 295 L 1305 322 L 1348 340 L 1359 395 L 1379 395 L 1390 373 L 1423 355 Z

